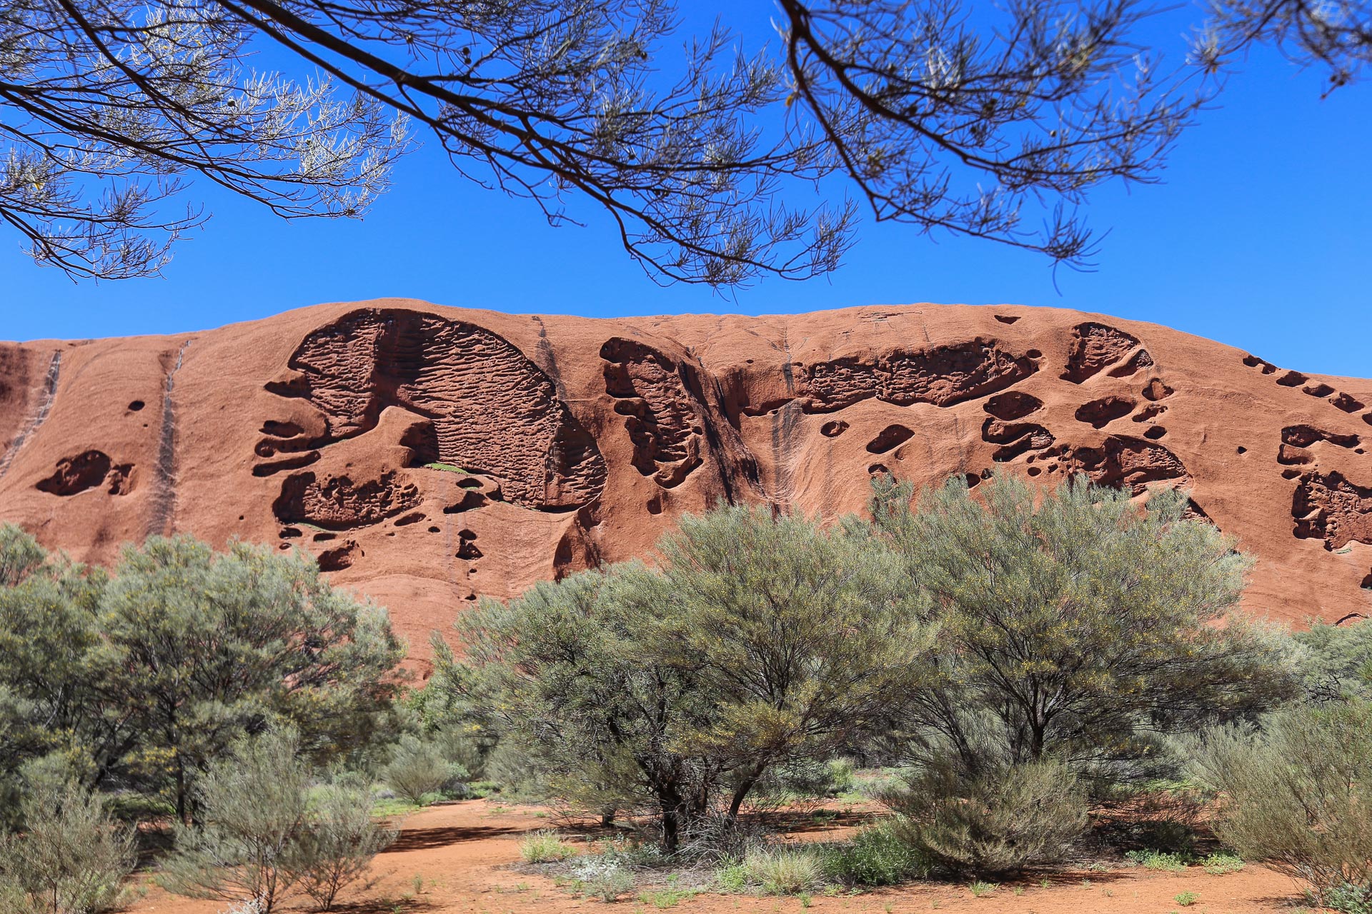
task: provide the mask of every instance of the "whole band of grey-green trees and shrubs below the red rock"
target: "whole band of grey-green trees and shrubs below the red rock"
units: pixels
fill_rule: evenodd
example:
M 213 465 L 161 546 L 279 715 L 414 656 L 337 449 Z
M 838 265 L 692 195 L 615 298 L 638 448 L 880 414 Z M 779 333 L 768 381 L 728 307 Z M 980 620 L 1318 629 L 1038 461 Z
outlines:
M 720 507 L 654 567 L 483 602 L 462 655 L 435 641 L 410 692 L 384 611 L 298 556 L 152 539 L 104 573 L 0 528 L 0 903 L 45 892 L 59 856 L 96 876 L 55 914 L 117 903 L 123 815 L 174 830 L 156 869 L 176 892 L 328 910 L 395 837 L 379 798 L 480 781 L 558 822 L 631 819 L 632 840 L 520 840 L 524 865 L 604 900 L 992 891 L 1076 856 L 1095 804 L 1115 815 L 1096 835 L 1143 867 L 1264 862 L 1356 911 L 1372 628 L 1231 615 L 1246 562 L 1184 504 L 996 478 L 918 499 L 879 480 L 871 521 Z M 781 817 L 809 825 L 858 789 L 892 814 L 777 840 Z M 1202 858 L 1207 808 L 1227 850 Z M 661 888 L 668 867 L 694 881 Z

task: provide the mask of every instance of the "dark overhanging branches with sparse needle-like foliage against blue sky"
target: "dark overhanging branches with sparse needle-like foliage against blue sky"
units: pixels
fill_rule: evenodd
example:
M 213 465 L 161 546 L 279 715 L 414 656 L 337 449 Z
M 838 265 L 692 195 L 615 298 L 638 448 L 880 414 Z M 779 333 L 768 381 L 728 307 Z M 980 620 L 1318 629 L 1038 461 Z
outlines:
M 8 0 L 0 219 L 71 275 L 145 275 L 202 221 L 166 206 L 191 178 L 359 217 L 427 137 L 553 223 L 606 212 L 663 281 L 836 269 L 856 206 L 794 204 L 834 174 L 878 221 L 1080 264 L 1076 207 L 1152 180 L 1228 58 L 1276 42 L 1343 85 L 1372 55 L 1367 0 L 1216 0 L 1170 69 L 1140 0 L 778 5 L 779 53 L 716 27 L 675 55 L 665 0 Z

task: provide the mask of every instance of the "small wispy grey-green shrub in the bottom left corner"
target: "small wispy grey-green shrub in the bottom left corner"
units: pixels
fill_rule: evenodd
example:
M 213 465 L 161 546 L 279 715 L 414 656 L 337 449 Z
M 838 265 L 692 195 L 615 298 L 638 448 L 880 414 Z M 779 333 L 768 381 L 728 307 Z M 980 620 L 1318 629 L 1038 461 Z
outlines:
M 136 862 L 132 832 L 74 781 L 37 782 L 22 835 L 0 836 L 0 913 L 99 914 L 119 907 Z

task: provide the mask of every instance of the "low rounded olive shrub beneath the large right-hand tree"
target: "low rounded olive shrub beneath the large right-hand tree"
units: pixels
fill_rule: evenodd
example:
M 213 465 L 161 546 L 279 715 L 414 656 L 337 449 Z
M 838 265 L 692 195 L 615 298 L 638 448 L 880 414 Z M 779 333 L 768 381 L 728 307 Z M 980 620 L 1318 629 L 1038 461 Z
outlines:
M 1056 762 L 1013 765 L 965 778 L 927 770 L 884 796 L 901 814 L 896 835 L 958 873 L 1011 873 L 1061 861 L 1087 825 L 1077 778 Z

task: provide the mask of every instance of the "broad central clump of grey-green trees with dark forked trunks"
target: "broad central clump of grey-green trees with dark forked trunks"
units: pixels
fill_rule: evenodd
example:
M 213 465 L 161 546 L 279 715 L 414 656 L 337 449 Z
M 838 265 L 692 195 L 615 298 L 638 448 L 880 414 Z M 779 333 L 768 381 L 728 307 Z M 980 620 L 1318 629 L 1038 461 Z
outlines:
M 766 510 L 687 517 L 660 570 L 587 571 L 462 614 L 466 665 L 440 654 L 435 678 L 494 708 L 569 799 L 649 799 L 674 851 L 720 793 L 731 819 L 770 767 L 829 758 L 926 677 L 929 633 L 870 545 Z

